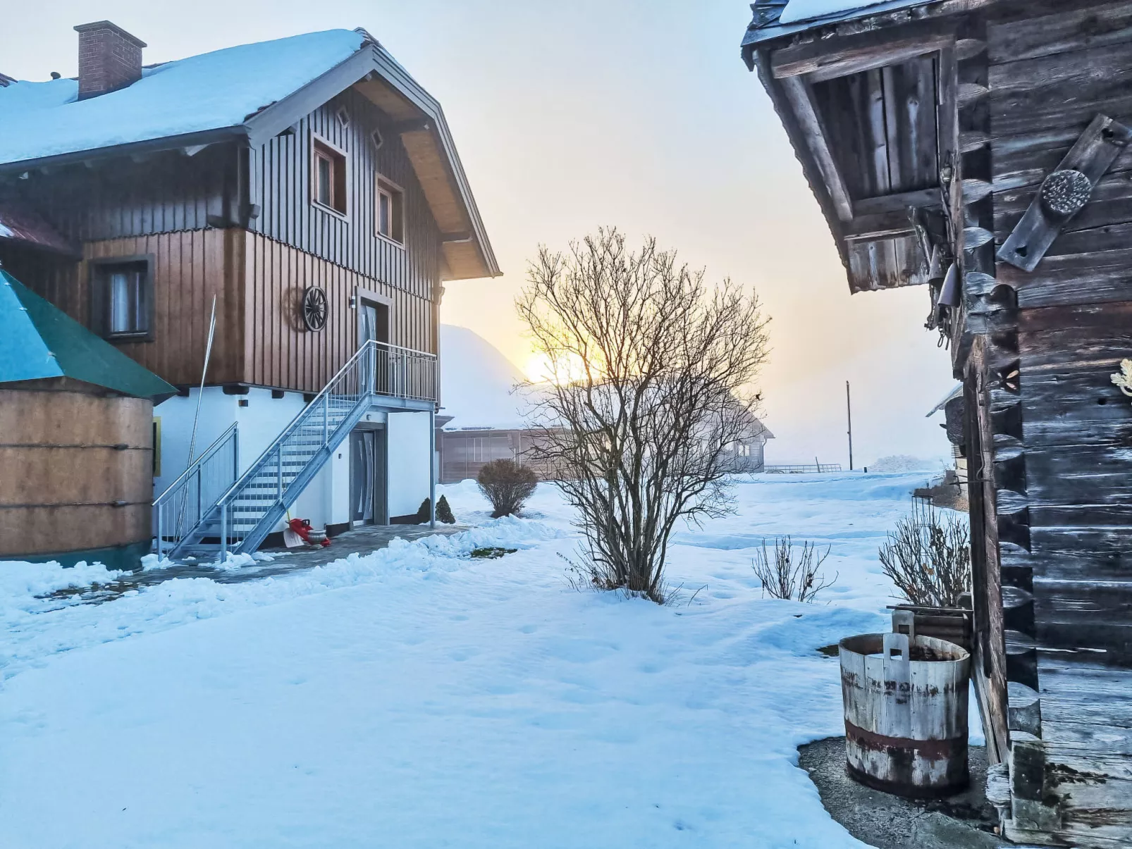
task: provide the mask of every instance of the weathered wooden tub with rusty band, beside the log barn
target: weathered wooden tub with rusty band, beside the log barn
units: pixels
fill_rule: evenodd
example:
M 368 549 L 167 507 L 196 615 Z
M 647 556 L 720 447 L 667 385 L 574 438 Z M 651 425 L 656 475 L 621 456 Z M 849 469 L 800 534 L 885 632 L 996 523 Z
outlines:
M 849 774 L 901 796 L 967 787 L 967 650 L 915 634 L 861 634 L 840 649 Z

